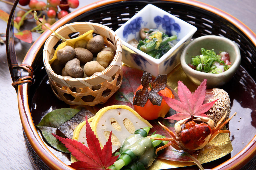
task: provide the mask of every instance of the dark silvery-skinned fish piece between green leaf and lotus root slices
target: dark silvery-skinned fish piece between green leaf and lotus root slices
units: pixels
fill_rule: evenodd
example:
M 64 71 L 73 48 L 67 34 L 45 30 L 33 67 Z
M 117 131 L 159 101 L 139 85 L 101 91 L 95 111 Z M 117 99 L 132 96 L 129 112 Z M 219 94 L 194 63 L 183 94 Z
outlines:
M 62 137 L 72 138 L 74 129 L 77 127 L 77 125 L 85 121 L 86 115 L 88 119 L 94 116 L 94 114 L 89 110 L 82 109 L 70 120 L 60 125 L 56 130 L 56 134 Z

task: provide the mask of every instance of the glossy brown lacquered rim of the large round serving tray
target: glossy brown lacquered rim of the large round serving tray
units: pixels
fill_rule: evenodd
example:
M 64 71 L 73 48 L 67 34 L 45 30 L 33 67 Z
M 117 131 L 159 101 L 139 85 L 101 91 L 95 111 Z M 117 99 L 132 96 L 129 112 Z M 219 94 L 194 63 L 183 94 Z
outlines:
M 102 0 L 90 5 L 84 6 L 80 9 L 77 9 L 74 12 L 71 12 L 66 17 L 58 20 L 55 24 L 51 26 L 51 29 L 56 30 L 60 26 L 64 25 L 67 21 L 83 14 L 84 12 L 90 11 L 94 8 L 101 7 L 104 5 L 109 5 L 111 3 L 121 2 L 122 0 Z M 231 22 L 235 25 L 239 30 L 241 30 L 256 46 L 256 35 L 253 33 L 245 24 L 231 16 L 227 12 L 224 12 L 216 7 L 207 5 L 205 3 L 201 3 L 194 0 L 169 0 L 170 2 L 182 3 L 191 6 L 195 6 L 206 11 L 212 12 L 227 21 Z M 23 64 L 32 65 L 35 59 L 35 54 L 40 51 L 40 48 L 46 41 L 46 39 L 51 34 L 51 31 L 47 30 L 35 41 L 35 43 L 31 46 L 28 53 L 26 54 Z M 17 88 L 18 95 L 18 108 L 20 113 L 20 119 L 23 126 L 24 133 L 26 138 L 33 148 L 37 156 L 50 168 L 50 169 L 72 169 L 70 166 L 64 164 L 60 161 L 54 154 L 52 154 L 47 146 L 45 146 L 44 142 L 40 138 L 35 125 L 33 123 L 33 119 L 29 109 L 29 100 L 28 100 L 28 83 L 20 84 Z M 213 169 L 239 169 L 243 165 L 245 165 L 248 161 L 250 161 L 253 156 L 256 154 L 256 136 L 249 142 L 249 144 L 244 147 L 238 154 L 227 160 L 226 162 L 216 166 Z

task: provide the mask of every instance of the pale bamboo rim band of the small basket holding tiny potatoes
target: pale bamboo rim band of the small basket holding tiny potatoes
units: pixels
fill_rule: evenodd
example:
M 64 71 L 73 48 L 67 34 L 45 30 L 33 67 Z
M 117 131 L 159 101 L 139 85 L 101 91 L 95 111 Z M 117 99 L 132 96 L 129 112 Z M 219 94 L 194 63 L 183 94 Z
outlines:
M 68 87 L 92 86 L 102 83 L 105 80 L 108 80 L 120 69 L 120 67 L 122 67 L 121 39 L 109 27 L 92 22 L 73 22 L 70 24 L 63 25 L 62 27 L 58 28 L 55 32 L 69 39 L 68 35 L 71 33 L 79 32 L 80 34 L 83 34 L 89 30 L 93 30 L 94 33 L 103 35 L 113 42 L 112 45 L 111 42 L 107 41 L 107 45 L 114 48 L 114 50 L 116 51 L 114 59 L 110 63 L 110 65 L 101 73 L 86 78 L 67 78 L 56 74 L 52 70 L 49 60 L 52 58 L 51 54 L 54 54 L 54 51 L 52 51 L 54 49 L 51 47 L 54 47 L 61 38 L 58 37 L 55 33 L 52 33 L 46 40 L 45 47 L 43 50 L 43 62 L 46 68 L 46 72 L 48 76 L 51 78 L 51 80 Z

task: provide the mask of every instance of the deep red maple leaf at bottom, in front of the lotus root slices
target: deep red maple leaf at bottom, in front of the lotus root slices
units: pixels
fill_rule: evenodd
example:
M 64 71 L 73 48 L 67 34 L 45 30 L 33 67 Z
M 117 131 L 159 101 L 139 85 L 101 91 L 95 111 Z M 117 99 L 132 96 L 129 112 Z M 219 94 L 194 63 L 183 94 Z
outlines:
M 93 169 L 101 170 L 106 169 L 110 165 L 113 165 L 117 156 L 112 156 L 112 143 L 111 143 L 111 134 L 110 132 L 109 139 L 101 150 L 100 143 L 94 132 L 92 131 L 86 116 L 86 140 L 88 147 L 83 145 L 81 142 L 69 139 L 62 138 L 58 135 L 52 133 L 59 141 L 61 141 L 71 152 L 73 156 L 76 157 L 78 162 L 71 163 L 72 168 L 74 169 Z

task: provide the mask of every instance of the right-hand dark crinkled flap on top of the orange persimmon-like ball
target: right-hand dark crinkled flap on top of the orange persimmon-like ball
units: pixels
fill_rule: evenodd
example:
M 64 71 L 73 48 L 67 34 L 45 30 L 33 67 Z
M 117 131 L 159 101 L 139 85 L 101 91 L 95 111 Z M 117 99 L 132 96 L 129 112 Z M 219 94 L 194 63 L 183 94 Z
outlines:
M 166 74 L 159 74 L 155 80 L 152 82 L 152 90 L 149 91 L 149 100 L 153 105 L 160 106 L 162 103 L 163 97 L 158 94 L 160 90 L 165 89 L 167 83 L 167 75 Z

